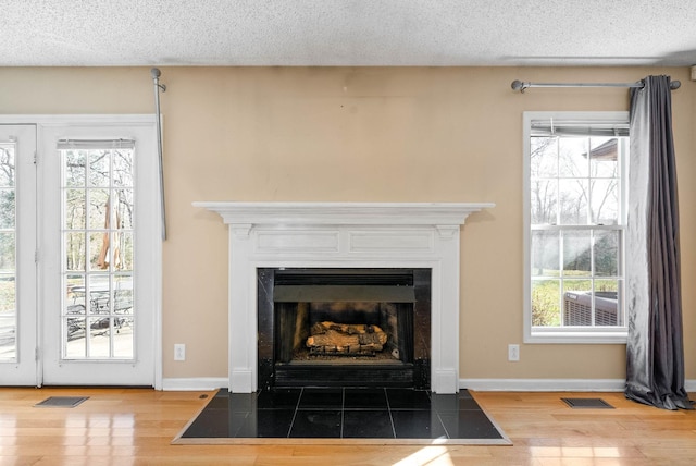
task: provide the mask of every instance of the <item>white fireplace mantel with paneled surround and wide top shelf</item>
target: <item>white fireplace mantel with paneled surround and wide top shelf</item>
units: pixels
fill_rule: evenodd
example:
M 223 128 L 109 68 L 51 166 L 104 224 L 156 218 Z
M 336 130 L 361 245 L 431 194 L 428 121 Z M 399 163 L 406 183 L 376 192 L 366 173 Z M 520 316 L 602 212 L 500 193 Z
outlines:
M 430 268 L 431 390 L 459 390 L 459 235 L 492 203 L 194 203 L 229 225 L 229 390 L 257 390 L 257 269 Z

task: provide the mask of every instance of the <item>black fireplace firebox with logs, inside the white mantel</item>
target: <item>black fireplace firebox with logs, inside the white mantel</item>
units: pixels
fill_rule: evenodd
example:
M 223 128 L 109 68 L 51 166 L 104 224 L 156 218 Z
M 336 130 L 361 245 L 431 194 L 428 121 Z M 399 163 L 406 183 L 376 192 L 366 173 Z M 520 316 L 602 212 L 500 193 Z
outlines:
M 258 387 L 430 389 L 431 270 L 258 270 Z

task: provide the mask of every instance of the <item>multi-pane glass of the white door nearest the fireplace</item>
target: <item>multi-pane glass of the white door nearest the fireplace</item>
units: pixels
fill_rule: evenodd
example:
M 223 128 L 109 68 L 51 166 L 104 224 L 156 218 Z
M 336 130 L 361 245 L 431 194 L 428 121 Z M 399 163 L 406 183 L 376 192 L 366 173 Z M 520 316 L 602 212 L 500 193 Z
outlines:
M 132 359 L 134 148 L 61 142 L 63 359 Z

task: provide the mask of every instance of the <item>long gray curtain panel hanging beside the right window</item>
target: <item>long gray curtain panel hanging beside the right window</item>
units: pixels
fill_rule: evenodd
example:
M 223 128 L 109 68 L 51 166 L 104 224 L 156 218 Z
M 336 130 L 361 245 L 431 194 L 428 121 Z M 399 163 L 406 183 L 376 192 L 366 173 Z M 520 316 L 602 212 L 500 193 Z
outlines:
M 676 168 L 669 76 L 631 89 L 625 396 L 693 409 L 684 390 Z

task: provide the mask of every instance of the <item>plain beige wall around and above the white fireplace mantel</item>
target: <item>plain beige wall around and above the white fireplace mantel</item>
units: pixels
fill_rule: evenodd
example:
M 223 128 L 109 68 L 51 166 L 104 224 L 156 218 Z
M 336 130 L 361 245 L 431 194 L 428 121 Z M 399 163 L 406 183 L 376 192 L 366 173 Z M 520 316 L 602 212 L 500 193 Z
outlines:
M 194 200 L 493 201 L 462 240 L 461 371 L 624 377 L 624 345 L 521 346 L 522 112 L 627 110 L 626 89 L 533 82 L 682 81 L 673 93 L 686 377 L 696 379 L 696 84 L 687 69 L 164 68 L 165 378 L 227 376 L 227 231 Z M 149 69 L 0 69 L 0 112 L 152 113 Z M 172 360 L 186 343 L 187 360 Z

